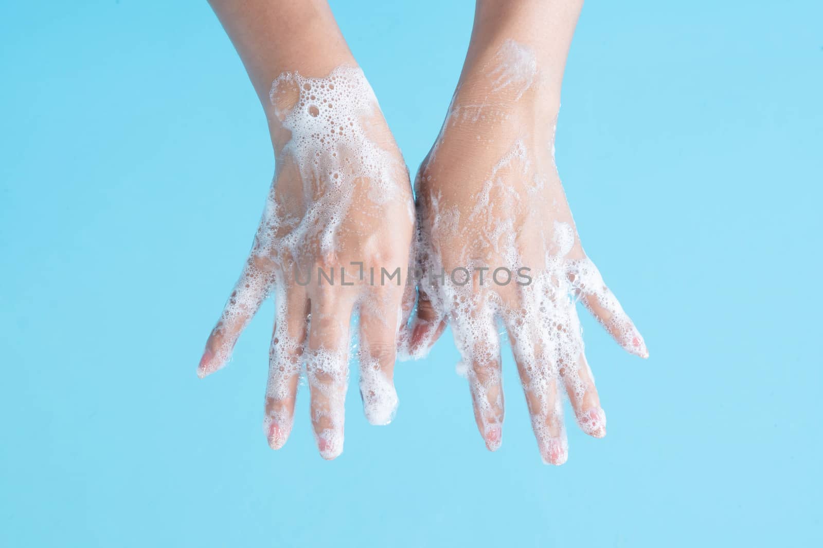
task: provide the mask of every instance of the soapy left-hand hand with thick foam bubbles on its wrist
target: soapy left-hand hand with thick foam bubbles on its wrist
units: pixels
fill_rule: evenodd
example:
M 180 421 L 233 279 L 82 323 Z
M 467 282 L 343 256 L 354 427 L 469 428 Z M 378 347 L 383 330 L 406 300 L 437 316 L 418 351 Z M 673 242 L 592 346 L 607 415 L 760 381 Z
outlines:
M 406 165 L 357 67 L 311 78 L 284 72 L 269 109 L 277 161 L 249 259 L 206 343 L 198 375 L 229 361 L 263 300 L 277 306 L 264 431 L 272 449 L 291 432 L 305 363 L 311 421 L 323 458 L 343 449 L 349 325 L 360 316 L 360 394 L 366 417 L 388 424 L 398 405 L 393 366 L 403 285 L 370 272 L 406 269 L 412 192 Z M 387 229 L 390 219 L 390 229 Z

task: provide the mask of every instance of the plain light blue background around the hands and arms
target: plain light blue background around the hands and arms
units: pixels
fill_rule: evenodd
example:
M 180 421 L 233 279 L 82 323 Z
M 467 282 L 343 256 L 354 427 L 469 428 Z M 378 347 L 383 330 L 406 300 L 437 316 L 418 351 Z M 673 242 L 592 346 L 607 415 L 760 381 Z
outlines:
M 472 3 L 334 2 L 416 168 Z M 0 7 L 0 545 L 821 546 L 823 3 L 588 2 L 557 160 L 651 359 L 588 318 L 605 440 L 546 467 L 507 355 L 483 449 L 444 338 L 346 452 L 261 433 L 273 307 L 202 344 L 273 161 L 206 2 Z

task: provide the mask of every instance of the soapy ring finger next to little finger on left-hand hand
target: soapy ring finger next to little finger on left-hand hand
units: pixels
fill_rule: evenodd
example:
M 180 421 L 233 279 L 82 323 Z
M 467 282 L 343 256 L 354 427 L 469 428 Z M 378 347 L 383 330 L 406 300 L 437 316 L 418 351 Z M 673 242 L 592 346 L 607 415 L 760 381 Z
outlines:
M 308 331 L 309 301 L 300 286 L 277 288 L 263 432 L 272 449 L 280 449 L 291 434 L 300 364 Z

